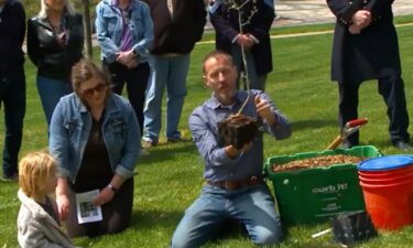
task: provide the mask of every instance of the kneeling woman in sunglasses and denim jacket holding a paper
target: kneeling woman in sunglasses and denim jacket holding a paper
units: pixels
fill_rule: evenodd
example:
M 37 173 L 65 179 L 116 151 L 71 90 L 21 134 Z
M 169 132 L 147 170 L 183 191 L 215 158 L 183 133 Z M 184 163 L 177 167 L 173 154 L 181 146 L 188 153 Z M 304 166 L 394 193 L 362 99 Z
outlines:
M 48 147 L 59 169 L 58 211 L 67 218 L 70 237 L 119 233 L 129 226 L 132 213 L 140 151 L 137 117 L 88 60 L 72 68 L 72 86 L 74 93 L 57 104 L 50 129 Z M 84 202 L 85 192 L 95 195 Z

